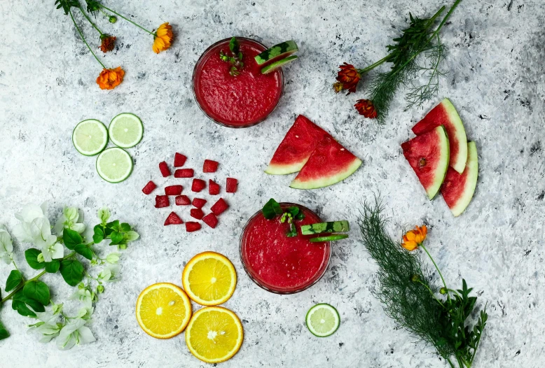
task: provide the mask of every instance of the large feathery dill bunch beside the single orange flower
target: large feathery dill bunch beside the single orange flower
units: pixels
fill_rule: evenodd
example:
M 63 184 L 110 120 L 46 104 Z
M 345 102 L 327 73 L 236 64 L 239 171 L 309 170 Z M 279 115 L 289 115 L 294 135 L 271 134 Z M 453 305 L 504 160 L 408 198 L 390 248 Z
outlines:
M 374 204 L 364 202 L 359 218 L 364 246 L 379 267 L 373 295 L 382 302 L 387 316 L 434 346 L 450 367 L 455 367 L 453 362 L 460 368 L 471 367 L 488 318 L 486 308 L 473 328 L 466 325 L 477 300 L 469 297 L 472 289 L 465 280 L 461 290 L 449 289 L 421 244 L 441 276 L 443 287 L 437 285 L 420 255 L 404 250 L 389 237 L 385 230 L 389 219 L 383 211 L 382 202 L 375 197 Z

